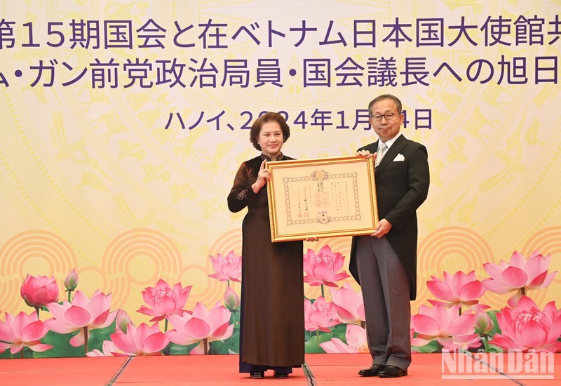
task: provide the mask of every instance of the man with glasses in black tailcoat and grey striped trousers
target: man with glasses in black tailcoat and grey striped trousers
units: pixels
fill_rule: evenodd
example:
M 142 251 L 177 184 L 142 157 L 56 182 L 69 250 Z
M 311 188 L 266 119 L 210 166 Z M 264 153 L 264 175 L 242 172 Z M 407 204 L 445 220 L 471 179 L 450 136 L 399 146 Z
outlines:
M 358 149 L 375 154 L 379 222 L 370 236 L 353 237 L 349 270 L 363 291 L 372 366 L 363 376 L 407 375 L 411 363 L 410 300 L 417 292 L 417 208 L 428 194 L 426 147 L 407 140 L 401 102 L 380 95 L 368 105 L 379 140 Z

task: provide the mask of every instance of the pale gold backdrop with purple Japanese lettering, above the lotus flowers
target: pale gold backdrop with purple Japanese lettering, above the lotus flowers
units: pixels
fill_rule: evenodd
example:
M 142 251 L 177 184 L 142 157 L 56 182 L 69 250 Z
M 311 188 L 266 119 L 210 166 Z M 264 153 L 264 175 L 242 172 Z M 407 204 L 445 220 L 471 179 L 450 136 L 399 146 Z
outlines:
M 431 297 L 424 282 L 443 271 L 475 269 L 481 280 L 485 262 L 534 250 L 561 270 L 560 11 L 558 1 L 1 1 L 0 310 L 30 311 L 26 274 L 62 285 L 74 267 L 81 291 L 112 293 L 111 308 L 137 323 L 148 319 L 135 312 L 141 291 L 158 279 L 193 285 L 187 308 L 210 307 L 226 284 L 208 277 L 209 256 L 241 254 L 245 212 L 229 213 L 226 197 L 239 164 L 257 155 L 241 127 L 283 110 L 285 154 L 349 155 L 376 139 L 364 120 L 353 126 L 381 93 L 403 101 L 402 132 L 426 145 L 431 166 L 414 312 Z M 508 29 L 496 27 L 503 19 Z M 528 19 L 543 19 L 541 32 Z M 98 22 L 99 48 L 79 39 L 80 20 Z M 367 40 L 357 20 L 375 20 L 374 47 L 356 44 Z M 394 39 L 397 20 L 410 39 Z M 419 20 L 435 20 L 435 32 Z M 466 32 L 476 45 L 465 35 L 452 44 L 462 20 L 476 26 Z M 130 48 L 104 36 L 116 21 L 130 22 Z M 303 22 L 313 30 L 303 34 Z M 147 31 L 154 46 L 142 46 Z M 438 35 L 443 43 L 429 44 Z M 330 83 L 305 84 L 306 60 L 326 59 Z M 95 64 L 111 60 L 101 86 Z M 238 67 L 222 84 L 227 60 L 247 60 L 247 86 L 236 84 Z M 166 76 L 182 84 L 158 84 L 163 61 L 181 65 Z M 256 87 L 264 63 L 277 64 L 282 87 Z M 431 127 L 415 112 L 430 112 Z M 325 244 L 348 269 L 350 239 L 305 247 Z M 306 285 L 310 298 L 319 291 Z M 560 299 L 561 275 L 529 295 L 540 306 Z M 498 309 L 508 296 L 481 301 Z

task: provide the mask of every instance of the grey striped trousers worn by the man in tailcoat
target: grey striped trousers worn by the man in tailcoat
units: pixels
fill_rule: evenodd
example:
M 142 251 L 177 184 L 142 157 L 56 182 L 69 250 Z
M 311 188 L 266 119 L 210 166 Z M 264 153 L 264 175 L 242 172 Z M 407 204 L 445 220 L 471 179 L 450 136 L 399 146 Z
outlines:
M 409 279 L 386 237 L 359 236 L 356 263 L 373 364 L 411 364 Z

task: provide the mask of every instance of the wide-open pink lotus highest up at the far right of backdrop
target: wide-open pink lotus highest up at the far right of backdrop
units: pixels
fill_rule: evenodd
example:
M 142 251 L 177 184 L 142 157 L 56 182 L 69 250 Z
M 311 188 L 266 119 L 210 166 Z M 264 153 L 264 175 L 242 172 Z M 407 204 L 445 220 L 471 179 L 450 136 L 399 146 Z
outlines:
M 551 284 L 557 271 L 548 274 L 550 258 L 550 255 L 543 257 L 538 251 L 534 251 L 526 261 L 522 253 L 514 251 L 509 262 L 501 260 L 499 265 L 485 263 L 483 267 L 491 278 L 485 279 L 481 284 L 494 293 L 517 291 L 508 299 L 508 305 L 516 307 L 526 290 L 546 288 Z

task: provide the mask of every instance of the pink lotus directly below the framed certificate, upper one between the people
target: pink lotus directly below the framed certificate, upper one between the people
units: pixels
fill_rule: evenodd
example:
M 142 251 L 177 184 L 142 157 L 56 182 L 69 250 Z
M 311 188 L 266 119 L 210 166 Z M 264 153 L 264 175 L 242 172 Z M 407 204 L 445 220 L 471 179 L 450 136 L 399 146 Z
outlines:
M 337 287 L 337 284 L 334 284 L 335 281 L 350 277 L 345 271 L 339 272 L 344 261 L 344 256 L 339 252 L 333 253 L 328 245 L 321 248 L 318 253 L 308 249 L 304 255 L 304 272 L 307 274 L 304 281 L 310 286 L 325 284 Z

